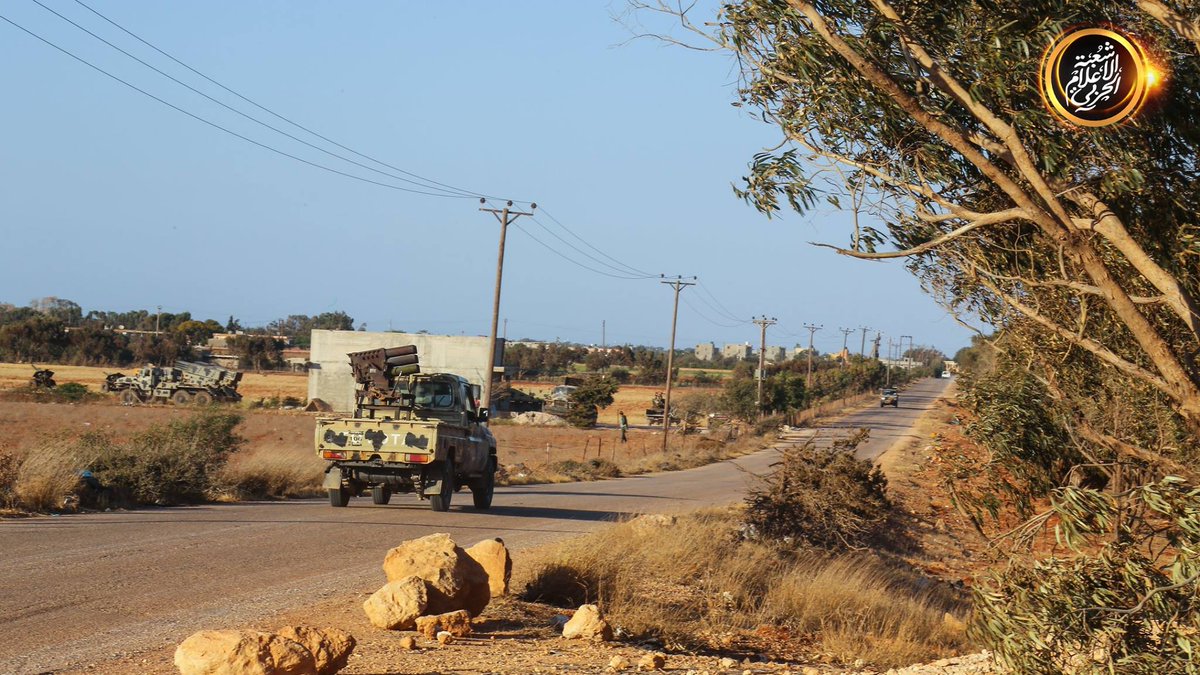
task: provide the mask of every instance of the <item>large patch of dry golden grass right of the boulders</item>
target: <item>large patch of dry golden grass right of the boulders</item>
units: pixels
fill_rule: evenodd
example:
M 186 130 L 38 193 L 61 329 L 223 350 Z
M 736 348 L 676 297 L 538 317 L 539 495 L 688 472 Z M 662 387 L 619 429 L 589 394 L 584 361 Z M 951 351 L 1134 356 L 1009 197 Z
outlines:
M 868 552 L 744 540 L 739 515 L 647 516 L 565 542 L 546 554 L 524 597 L 599 602 L 624 635 L 674 650 L 895 667 L 966 646 L 966 604 L 948 586 Z

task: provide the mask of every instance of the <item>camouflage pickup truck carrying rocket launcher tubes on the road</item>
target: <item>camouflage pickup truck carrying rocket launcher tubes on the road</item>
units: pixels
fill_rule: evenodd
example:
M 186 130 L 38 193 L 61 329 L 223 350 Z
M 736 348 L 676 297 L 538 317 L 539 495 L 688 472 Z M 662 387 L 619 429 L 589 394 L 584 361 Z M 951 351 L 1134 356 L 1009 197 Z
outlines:
M 376 504 L 415 492 L 446 510 L 456 491 L 470 488 L 475 508 L 491 508 L 496 437 L 478 387 L 457 375 L 421 374 L 410 345 L 349 357 L 354 416 L 317 419 L 329 503 L 344 507 L 370 489 Z

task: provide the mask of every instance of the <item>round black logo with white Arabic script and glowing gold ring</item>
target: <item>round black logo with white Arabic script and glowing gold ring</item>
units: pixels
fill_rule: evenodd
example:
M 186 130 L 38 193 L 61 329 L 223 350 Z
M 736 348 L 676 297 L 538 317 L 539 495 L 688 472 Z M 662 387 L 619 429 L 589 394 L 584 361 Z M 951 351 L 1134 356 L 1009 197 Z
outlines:
M 1108 126 L 1141 108 L 1154 77 L 1133 38 L 1108 28 L 1079 28 L 1046 52 L 1042 95 L 1067 121 Z

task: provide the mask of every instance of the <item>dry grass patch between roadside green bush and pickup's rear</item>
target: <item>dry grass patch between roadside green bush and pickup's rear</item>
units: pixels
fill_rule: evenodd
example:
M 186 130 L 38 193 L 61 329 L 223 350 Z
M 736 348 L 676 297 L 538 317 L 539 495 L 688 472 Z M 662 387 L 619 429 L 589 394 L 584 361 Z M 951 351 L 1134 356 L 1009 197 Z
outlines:
M 325 461 L 314 453 L 242 452 L 217 476 L 223 500 L 312 497 L 324 494 Z

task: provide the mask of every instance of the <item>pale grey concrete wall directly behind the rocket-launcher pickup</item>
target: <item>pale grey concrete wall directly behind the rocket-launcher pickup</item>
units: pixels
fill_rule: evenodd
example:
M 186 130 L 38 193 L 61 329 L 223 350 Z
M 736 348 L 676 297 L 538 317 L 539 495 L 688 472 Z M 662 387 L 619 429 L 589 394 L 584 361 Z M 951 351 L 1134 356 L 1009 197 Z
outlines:
M 308 399 L 320 399 L 338 412 L 354 410 L 354 377 L 346 354 L 416 345 L 421 372 L 452 372 L 484 384 L 487 371 L 487 338 L 428 335 L 425 333 L 366 333 L 361 330 L 313 330 L 308 357 Z M 496 371 L 504 364 L 504 340 L 496 341 Z

